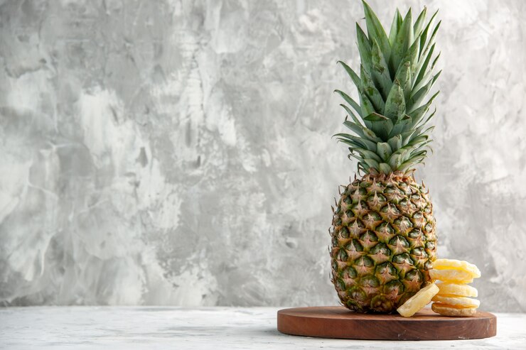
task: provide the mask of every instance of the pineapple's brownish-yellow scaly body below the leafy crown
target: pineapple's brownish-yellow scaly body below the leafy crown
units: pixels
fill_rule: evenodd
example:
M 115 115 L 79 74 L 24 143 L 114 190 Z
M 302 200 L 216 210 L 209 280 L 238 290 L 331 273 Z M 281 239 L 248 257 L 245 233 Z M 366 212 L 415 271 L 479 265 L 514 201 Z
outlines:
M 396 312 L 431 281 L 433 205 L 429 191 L 412 175 L 355 179 L 333 212 L 331 280 L 349 310 Z

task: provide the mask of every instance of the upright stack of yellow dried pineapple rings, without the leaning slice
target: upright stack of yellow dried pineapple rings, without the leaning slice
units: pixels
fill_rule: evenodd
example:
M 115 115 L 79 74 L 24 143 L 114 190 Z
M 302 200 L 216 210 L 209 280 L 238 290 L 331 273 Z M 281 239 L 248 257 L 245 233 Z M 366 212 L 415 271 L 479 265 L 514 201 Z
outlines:
M 432 280 L 439 280 L 439 292 L 433 297 L 431 310 L 444 316 L 473 316 L 481 302 L 472 299 L 478 292 L 467 285 L 473 278 L 481 277 L 481 271 L 467 261 L 437 259 L 429 270 Z

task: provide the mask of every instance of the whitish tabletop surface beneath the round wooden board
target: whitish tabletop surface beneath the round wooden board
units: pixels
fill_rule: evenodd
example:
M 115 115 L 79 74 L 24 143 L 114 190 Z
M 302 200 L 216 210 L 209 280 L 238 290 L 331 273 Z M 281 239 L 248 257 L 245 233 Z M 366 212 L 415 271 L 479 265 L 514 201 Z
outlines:
M 526 314 L 499 314 L 497 336 L 456 341 L 294 337 L 282 307 L 8 307 L 0 349 L 526 349 Z

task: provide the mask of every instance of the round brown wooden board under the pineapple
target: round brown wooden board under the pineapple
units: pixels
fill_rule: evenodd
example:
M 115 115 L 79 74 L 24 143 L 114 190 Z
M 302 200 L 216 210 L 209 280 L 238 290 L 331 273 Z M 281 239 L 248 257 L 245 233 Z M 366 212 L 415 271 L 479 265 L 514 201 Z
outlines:
M 281 333 L 306 337 L 377 340 L 481 339 L 497 334 L 497 317 L 445 317 L 431 309 L 413 317 L 352 312 L 343 306 L 296 307 L 278 311 Z

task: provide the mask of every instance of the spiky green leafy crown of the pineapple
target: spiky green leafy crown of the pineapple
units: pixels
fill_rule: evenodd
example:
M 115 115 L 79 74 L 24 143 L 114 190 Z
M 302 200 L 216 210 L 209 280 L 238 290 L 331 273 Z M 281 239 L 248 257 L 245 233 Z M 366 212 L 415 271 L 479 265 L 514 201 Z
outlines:
M 355 135 L 337 133 L 349 146 L 349 158 L 358 160 L 358 172 L 389 174 L 414 170 L 422 163 L 431 143 L 434 126 L 428 114 L 436 94 L 425 100 L 440 72 L 433 69 L 434 38 L 440 22 L 432 27 L 436 12 L 426 21 L 426 8 L 413 23 L 411 9 L 402 18 L 394 13 L 389 36 L 370 6 L 363 1 L 367 35 L 356 23 L 360 74 L 338 61 L 358 88 L 360 103 L 335 90 L 347 102 L 344 125 Z M 438 11 L 437 11 L 438 12 Z M 356 114 L 353 113 L 353 110 Z M 348 117 L 352 120 L 348 120 Z

